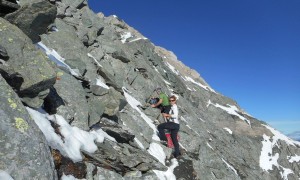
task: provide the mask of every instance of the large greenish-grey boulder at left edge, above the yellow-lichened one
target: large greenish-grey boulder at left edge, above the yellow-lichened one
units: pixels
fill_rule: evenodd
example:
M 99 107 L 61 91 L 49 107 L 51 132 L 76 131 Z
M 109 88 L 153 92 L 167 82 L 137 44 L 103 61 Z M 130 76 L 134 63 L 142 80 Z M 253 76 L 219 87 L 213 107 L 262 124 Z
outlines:
M 1 75 L 24 103 L 40 107 L 56 78 L 48 58 L 15 25 L 0 18 L 0 29 L 1 46 L 9 57 L 0 63 Z

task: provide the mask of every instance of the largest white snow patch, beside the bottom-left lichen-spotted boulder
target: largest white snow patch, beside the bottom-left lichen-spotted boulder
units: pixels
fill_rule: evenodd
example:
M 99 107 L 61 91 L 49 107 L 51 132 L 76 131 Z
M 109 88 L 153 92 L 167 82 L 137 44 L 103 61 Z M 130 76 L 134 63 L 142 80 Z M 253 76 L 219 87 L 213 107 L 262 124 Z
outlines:
M 94 153 L 97 150 L 95 141 L 102 143 L 104 139 L 116 140 L 106 134 L 102 129 L 92 130 L 90 132 L 83 131 L 77 127 L 72 127 L 60 115 L 49 115 L 44 110 L 34 110 L 26 108 L 32 119 L 45 135 L 47 142 L 53 149 L 58 149 L 64 156 L 69 157 L 74 162 L 82 160 L 81 150 Z M 55 133 L 51 123 L 55 122 L 59 125 L 60 133 L 64 140 Z

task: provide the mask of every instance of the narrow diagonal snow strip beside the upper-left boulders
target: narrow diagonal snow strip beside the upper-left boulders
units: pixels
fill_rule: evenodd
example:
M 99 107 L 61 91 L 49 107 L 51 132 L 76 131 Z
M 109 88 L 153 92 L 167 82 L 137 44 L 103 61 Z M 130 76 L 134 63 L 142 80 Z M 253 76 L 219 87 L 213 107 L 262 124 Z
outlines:
M 67 65 L 64 61 L 65 59 L 61 57 L 54 49 L 48 48 L 45 44 L 42 42 L 38 42 L 36 46 L 41 49 L 43 52 L 47 54 L 49 59 L 57 64 L 59 67 L 64 67 L 69 70 L 69 72 L 73 76 L 80 76 L 79 73 L 75 72 L 69 65 Z

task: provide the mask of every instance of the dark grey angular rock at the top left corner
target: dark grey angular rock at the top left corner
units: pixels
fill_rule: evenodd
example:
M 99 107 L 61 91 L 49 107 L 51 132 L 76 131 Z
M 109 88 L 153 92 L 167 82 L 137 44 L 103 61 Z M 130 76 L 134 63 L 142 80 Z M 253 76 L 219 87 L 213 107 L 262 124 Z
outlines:
M 40 1 L 22 6 L 5 18 L 18 26 L 34 43 L 40 41 L 39 35 L 46 33 L 47 27 L 54 22 L 56 7 L 48 1 Z

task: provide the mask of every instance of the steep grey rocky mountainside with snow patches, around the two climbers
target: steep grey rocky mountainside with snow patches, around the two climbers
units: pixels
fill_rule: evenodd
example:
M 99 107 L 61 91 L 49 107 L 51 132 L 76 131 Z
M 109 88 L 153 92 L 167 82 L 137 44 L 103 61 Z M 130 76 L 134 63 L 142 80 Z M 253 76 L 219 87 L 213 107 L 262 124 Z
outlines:
M 0 2 L 0 179 L 300 179 L 299 142 L 120 18 Z M 179 97 L 179 159 L 141 108 L 156 87 Z

